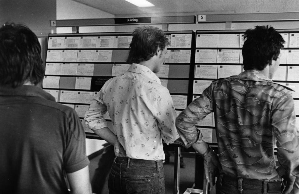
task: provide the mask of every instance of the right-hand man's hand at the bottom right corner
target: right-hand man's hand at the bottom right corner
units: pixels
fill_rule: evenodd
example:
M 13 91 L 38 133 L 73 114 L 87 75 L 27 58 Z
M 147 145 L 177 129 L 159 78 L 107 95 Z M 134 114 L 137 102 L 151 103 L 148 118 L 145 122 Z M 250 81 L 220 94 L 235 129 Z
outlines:
M 282 185 L 281 185 L 281 193 L 282 194 L 288 194 L 292 191 L 293 185 L 295 183 L 295 176 L 292 176 L 287 173 L 287 171 L 282 167 L 279 166 L 276 169 L 277 173 L 283 178 Z

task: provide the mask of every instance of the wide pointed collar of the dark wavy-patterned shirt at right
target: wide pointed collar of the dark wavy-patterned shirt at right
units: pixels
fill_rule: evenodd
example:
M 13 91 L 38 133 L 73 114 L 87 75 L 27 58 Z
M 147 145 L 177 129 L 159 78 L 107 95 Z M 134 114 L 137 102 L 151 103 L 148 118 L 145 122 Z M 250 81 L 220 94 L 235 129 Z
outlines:
M 246 70 L 246 71 L 241 72 L 239 75 L 234 75 L 234 76 L 231 76 L 230 78 L 259 81 L 259 82 L 268 82 L 268 83 L 275 83 L 275 84 L 281 85 L 280 83 L 273 82 L 271 79 L 269 79 L 267 76 L 265 76 L 258 70 Z M 281 86 L 283 86 L 291 91 L 294 91 L 291 88 L 288 88 L 287 86 L 284 86 L 284 85 L 281 85 Z

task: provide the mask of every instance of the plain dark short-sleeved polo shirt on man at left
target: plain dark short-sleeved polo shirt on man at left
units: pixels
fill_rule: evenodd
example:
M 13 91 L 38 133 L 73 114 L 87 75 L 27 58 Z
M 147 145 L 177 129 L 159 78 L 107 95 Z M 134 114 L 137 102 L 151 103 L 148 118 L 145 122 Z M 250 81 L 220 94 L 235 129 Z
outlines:
M 0 193 L 67 193 L 64 171 L 88 164 L 74 109 L 36 86 L 0 86 Z

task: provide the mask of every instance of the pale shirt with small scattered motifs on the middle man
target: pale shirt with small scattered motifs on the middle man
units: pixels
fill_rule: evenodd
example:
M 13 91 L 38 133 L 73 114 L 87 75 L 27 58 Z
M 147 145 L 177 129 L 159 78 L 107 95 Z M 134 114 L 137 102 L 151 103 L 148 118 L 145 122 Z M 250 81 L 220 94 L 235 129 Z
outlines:
M 93 130 L 106 127 L 109 112 L 113 129 L 129 158 L 164 160 L 162 139 L 179 138 L 172 98 L 160 79 L 144 65 L 133 63 L 128 71 L 109 79 L 94 98 L 84 119 Z

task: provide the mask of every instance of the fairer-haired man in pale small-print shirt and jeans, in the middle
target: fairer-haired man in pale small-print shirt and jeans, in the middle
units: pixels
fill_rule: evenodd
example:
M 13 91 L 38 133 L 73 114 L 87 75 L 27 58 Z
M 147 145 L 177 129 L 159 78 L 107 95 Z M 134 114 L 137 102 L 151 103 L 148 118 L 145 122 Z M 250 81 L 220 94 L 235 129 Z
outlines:
M 127 59 L 132 65 L 104 84 L 84 119 L 114 145 L 110 193 L 165 193 L 162 138 L 173 143 L 179 135 L 172 98 L 154 73 L 164 63 L 169 42 L 162 30 L 151 26 L 135 29 L 132 36 Z M 103 117 L 107 111 L 112 129 Z

